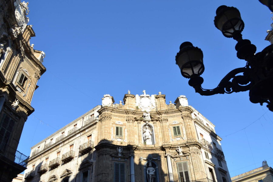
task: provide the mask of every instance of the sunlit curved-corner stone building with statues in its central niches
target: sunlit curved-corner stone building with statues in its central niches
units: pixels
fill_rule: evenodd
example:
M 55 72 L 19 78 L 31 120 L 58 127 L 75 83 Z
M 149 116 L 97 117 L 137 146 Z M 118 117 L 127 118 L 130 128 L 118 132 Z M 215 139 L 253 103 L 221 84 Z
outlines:
M 128 91 L 31 148 L 26 182 L 231 182 L 214 124 L 183 95 Z

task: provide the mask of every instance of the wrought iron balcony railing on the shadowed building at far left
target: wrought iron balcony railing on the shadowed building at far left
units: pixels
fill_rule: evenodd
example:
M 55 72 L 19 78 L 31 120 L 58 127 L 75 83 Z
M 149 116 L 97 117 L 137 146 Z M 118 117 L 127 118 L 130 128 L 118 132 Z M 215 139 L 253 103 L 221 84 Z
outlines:
M 25 168 L 29 160 L 29 157 L 3 143 L 0 145 L 0 155 Z

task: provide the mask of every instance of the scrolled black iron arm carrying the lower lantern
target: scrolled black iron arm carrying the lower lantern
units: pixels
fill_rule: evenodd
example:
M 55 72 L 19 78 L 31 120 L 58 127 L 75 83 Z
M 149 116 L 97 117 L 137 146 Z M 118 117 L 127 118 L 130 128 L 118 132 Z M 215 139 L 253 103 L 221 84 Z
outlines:
M 218 86 L 214 89 L 203 89 L 201 84 L 194 85 L 195 92 L 200 93 L 202 96 L 211 96 L 217 93 L 233 93 L 243 92 L 251 88 L 250 68 L 236 68 L 220 81 Z M 242 73 L 242 75 L 238 75 Z

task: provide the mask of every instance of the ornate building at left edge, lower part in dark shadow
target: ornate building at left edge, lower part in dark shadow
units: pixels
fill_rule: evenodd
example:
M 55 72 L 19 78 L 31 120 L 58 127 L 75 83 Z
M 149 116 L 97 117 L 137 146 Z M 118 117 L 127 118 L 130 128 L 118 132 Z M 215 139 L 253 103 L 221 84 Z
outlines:
M 45 72 L 45 53 L 33 49 L 35 36 L 28 2 L 0 1 L 0 181 L 11 182 L 26 169 L 28 157 L 17 151 L 34 90 Z

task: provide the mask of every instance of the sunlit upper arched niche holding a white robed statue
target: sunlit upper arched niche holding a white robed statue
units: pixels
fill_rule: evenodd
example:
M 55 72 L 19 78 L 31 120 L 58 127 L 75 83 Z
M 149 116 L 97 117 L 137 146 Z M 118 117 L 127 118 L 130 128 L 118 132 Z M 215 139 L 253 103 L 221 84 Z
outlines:
M 141 136 L 144 145 L 154 145 L 156 143 L 154 127 L 150 123 L 141 126 Z

